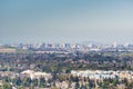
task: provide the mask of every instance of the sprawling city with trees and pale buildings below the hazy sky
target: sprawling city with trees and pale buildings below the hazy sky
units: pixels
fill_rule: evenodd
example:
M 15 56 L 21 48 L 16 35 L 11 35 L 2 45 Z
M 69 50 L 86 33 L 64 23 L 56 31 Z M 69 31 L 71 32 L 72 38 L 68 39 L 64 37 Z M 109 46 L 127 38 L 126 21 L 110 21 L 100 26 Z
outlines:
M 0 89 L 133 89 L 133 44 L 1 44 Z

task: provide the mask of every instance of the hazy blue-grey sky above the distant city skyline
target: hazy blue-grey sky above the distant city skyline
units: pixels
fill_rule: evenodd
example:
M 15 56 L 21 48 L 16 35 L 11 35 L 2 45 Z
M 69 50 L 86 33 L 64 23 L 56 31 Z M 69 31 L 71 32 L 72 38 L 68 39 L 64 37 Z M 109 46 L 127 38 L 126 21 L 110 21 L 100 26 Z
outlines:
M 133 0 L 0 0 L 0 43 L 133 43 Z

